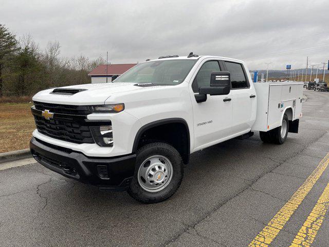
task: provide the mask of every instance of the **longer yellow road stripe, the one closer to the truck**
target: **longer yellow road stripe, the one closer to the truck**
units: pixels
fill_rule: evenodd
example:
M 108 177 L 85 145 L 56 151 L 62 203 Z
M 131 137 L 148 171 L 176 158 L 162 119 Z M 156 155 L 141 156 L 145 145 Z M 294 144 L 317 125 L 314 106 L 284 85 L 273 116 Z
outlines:
M 317 168 L 309 175 L 305 182 L 298 188 L 288 202 L 279 210 L 279 212 L 268 222 L 263 230 L 251 241 L 249 247 L 261 246 L 267 247 L 279 234 L 283 226 L 290 219 L 291 215 L 302 203 L 308 192 L 322 175 L 329 164 L 329 153 L 322 159 Z

